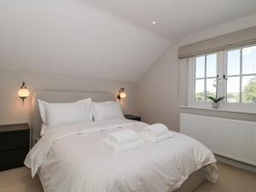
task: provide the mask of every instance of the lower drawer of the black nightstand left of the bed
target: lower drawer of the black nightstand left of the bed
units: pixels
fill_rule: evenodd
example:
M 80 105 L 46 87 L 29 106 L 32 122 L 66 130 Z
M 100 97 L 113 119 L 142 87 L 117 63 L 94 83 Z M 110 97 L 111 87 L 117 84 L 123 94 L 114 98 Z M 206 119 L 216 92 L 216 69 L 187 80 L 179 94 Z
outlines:
M 20 148 L 16 150 L 10 150 L 0 153 L 0 171 L 8 170 L 11 168 L 24 166 L 24 160 L 28 148 Z

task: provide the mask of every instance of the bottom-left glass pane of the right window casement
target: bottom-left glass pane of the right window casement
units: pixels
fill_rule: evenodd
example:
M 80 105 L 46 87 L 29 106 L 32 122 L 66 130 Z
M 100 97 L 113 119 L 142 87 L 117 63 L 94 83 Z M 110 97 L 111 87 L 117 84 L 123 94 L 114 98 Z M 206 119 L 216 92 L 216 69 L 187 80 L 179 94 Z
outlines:
M 232 77 L 227 80 L 227 102 L 240 102 L 240 77 Z

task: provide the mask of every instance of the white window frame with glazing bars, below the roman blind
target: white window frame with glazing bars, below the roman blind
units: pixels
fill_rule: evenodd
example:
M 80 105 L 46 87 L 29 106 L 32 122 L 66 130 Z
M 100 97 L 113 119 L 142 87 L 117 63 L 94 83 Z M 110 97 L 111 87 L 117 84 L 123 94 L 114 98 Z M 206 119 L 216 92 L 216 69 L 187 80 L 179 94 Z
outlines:
M 239 47 L 236 49 L 240 49 L 240 55 L 242 55 L 242 49 L 247 47 L 255 46 L 254 44 Z M 230 112 L 238 112 L 238 113 L 256 113 L 256 103 L 247 103 L 241 102 L 241 92 L 240 92 L 240 102 L 227 102 L 227 80 L 224 79 L 228 77 L 240 77 L 240 91 L 242 88 L 242 76 L 252 76 L 252 74 L 242 75 L 242 56 L 240 56 L 240 74 L 239 75 L 230 75 L 228 76 L 228 51 L 233 49 L 227 49 L 224 51 L 212 52 L 205 54 L 206 60 L 207 55 L 217 54 L 217 75 L 220 78 L 218 84 L 218 97 L 225 96 L 224 101 L 219 102 L 219 108 L 217 110 L 230 111 Z M 189 108 L 203 108 L 203 109 L 212 109 L 212 102 L 196 102 L 195 101 L 195 66 L 196 66 L 196 57 L 202 55 L 195 55 L 194 57 L 190 57 L 188 59 L 189 64 L 189 79 L 188 79 L 188 107 Z M 206 68 L 206 67 L 205 67 Z M 206 73 L 206 72 L 205 72 Z M 207 74 L 205 74 L 205 79 Z M 205 80 L 206 81 L 206 80 Z M 207 84 L 205 84 L 205 87 Z M 205 90 L 206 91 L 206 90 Z M 216 110 L 216 109 L 212 109 Z

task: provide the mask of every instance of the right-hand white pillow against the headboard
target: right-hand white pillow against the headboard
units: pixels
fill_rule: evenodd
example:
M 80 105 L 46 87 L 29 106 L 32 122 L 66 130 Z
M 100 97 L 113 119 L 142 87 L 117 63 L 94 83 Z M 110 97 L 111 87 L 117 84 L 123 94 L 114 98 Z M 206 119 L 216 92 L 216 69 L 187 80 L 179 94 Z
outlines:
M 95 121 L 125 118 L 117 102 L 92 102 L 91 109 Z

